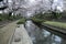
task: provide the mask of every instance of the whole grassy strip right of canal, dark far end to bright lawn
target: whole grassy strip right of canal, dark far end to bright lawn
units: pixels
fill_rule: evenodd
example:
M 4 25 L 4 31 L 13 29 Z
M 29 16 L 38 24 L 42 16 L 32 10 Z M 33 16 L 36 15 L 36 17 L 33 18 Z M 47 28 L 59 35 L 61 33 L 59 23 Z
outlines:
M 32 20 L 36 23 L 40 23 L 40 24 L 48 24 L 48 25 L 52 25 L 52 26 L 66 29 L 66 23 L 64 23 L 64 22 L 46 21 L 46 20 L 35 19 L 35 18 L 33 18 Z

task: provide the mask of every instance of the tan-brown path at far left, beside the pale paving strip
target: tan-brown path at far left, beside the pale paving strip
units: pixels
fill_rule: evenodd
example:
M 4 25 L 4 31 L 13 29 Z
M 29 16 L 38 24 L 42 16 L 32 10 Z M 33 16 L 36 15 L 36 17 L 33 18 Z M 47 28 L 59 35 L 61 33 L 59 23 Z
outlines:
M 18 21 L 14 21 L 0 29 L 0 44 L 8 44 L 10 37 L 14 33 L 16 22 Z

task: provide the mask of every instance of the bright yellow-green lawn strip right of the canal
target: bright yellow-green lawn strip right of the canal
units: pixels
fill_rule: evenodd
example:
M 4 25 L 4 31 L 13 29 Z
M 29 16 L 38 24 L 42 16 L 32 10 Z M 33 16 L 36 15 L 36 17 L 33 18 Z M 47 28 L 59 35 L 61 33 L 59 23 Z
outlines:
M 63 22 L 46 21 L 46 22 L 43 22 L 43 24 L 48 24 L 48 25 L 52 25 L 52 26 L 66 29 L 66 23 L 63 23 Z

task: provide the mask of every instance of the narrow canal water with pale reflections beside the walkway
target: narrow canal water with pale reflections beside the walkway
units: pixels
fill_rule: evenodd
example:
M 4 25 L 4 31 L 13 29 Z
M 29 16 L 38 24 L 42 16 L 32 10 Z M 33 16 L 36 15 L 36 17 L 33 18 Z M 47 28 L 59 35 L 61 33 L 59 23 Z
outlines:
M 33 44 L 66 44 L 66 38 L 61 34 L 47 31 L 45 28 L 38 28 L 31 20 L 25 22 L 25 29 Z

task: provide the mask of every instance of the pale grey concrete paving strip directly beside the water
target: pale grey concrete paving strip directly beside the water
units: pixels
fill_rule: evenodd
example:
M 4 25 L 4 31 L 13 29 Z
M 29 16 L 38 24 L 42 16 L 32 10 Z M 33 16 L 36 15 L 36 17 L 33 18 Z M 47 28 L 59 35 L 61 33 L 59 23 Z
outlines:
M 15 29 L 11 44 L 33 44 L 23 24 Z

